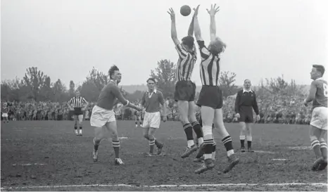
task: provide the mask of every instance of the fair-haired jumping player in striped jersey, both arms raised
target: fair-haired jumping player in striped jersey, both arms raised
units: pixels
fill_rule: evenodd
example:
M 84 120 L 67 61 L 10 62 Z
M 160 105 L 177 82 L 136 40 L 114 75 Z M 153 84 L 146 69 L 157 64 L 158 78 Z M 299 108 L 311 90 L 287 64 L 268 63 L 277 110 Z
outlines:
M 216 37 L 215 27 L 215 13 L 219 11 L 219 7 L 215 8 L 216 4 L 211 6 L 210 11 L 210 45 L 206 48 L 205 43 L 201 37 L 201 28 L 198 23 L 198 7 L 194 9 L 194 30 L 195 37 L 201 51 L 201 93 L 197 101 L 197 105 L 201 107 L 201 116 L 203 124 L 203 151 L 204 151 L 204 163 L 196 169 L 195 173 L 200 174 L 206 172 L 209 169 L 215 167 L 212 159 L 213 152 L 213 132 L 212 124 L 218 128 L 218 132 L 222 136 L 222 142 L 227 150 L 227 158 L 229 165 L 225 168 L 224 172 L 229 172 L 239 162 L 239 158 L 234 154 L 234 148 L 232 146 L 232 138 L 225 129 L 222 117 L 222 91 L 218 87 L 218 79 L 220 74 L 220 53 L 225 50 L 225 43 L 220 38 Z

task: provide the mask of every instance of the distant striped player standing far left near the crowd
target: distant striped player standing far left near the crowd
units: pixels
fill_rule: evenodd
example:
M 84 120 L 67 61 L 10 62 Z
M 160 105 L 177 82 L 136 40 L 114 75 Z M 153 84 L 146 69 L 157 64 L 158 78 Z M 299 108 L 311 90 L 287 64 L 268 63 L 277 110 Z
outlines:
M 88 104 L 87 100 L 81 96 L 78 90 L 75 91 L 75 97 L 72 97 L 70 101 L 68 101 L 70 110 L 74 111 L 74 129 L 77 136 L 82 136 L 83 112 L 87 109 Z M 79 122 L 80 132 L 77 130 L 77 122 Z

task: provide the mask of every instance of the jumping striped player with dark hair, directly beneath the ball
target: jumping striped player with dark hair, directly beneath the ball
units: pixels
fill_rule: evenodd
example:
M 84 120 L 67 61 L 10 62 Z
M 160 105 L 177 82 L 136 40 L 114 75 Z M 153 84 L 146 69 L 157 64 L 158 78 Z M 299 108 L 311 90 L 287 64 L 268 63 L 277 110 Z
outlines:
M 201 145 L 201 143 L 203 143 L 201 126 L 197 122 L 194 113 L 196 84 L 190 80 L 197 60 L 193 37 L 194 17 L 189 25 L 188 36 L 182 38 L 182 43 L 180 44 L 179 39 L 177 39 L 177 30 L 175 28 L 175 12 L 170 8 L 168 13 L 171 16 L 171 37 L 175 44 L 175 49 L 177 49 L 177 53 L 179 54 L 175 72 L 177 77 L 177 83 L 175 84 L 175 101 L 177 101 L 177 107 L 179 109 L 180 122 L 182 122 L 184 132 L 187 136 L 187 150 L 182 153 L 181 158 L 187 158 L 191 153 L 197 151 L 198 148 L 194 143 L 193 129 L 198 138 L 198 144 Z

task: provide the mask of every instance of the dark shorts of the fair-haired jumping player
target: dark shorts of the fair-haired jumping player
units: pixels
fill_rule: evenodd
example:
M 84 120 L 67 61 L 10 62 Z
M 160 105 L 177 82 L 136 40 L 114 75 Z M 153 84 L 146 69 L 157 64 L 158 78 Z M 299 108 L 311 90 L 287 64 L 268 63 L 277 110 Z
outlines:
M 201 87 L 201 93 L 199 93 L 197 105 L 199 107 L 207 106 L 213 109 L 222 108 L 223 99 L 220 87 L 203 85 Z

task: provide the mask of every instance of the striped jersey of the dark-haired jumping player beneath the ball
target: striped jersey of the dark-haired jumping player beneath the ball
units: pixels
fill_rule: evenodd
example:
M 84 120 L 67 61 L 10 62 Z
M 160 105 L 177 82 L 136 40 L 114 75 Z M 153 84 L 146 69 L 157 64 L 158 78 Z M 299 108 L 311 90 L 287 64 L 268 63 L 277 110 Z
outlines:
M 177 53 L 179 54 L 179 59 L 177 60 L 177 69 L 175 70 L 175 77 L 177 78 L 177 81 L 189 81 L 197 60 L 195 46 L 191 52 L 188 52 L 187 49 L 182 46 L 182 44 L 177 44 L 175 49 L 177 49 Z

